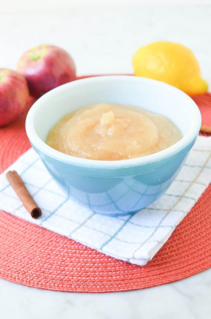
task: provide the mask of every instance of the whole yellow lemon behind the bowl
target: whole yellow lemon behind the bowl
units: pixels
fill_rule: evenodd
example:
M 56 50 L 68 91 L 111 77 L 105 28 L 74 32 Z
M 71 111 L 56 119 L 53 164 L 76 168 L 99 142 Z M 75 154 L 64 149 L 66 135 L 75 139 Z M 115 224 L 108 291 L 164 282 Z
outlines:
M 133 57 L 134 74 L 162 81 L 188 95 L 207 92 L 207 82 L 201 78 L 199 63 L 185 46 L 157 41 L 139 48 Z

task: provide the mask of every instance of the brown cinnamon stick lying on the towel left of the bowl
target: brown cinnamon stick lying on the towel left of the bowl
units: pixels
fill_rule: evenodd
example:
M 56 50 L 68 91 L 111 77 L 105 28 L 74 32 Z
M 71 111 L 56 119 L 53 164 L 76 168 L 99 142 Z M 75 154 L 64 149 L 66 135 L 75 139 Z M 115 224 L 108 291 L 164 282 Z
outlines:
M 25 188 L 24 182 L 18 173 L 16 171 L 9 171 L 6 174 L 6 178 L 30 215 L 35 219 L 40 217 L 42 212 Z

